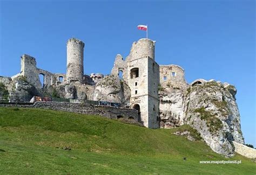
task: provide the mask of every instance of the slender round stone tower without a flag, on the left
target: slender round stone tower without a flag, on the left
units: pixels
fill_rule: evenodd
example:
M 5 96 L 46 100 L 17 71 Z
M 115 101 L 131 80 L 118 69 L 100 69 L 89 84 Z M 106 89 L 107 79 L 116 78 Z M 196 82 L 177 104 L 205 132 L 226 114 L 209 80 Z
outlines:
M 84 43 L 71 38 L 66 43 L 66 81 L 83 82 L 84 76 Z

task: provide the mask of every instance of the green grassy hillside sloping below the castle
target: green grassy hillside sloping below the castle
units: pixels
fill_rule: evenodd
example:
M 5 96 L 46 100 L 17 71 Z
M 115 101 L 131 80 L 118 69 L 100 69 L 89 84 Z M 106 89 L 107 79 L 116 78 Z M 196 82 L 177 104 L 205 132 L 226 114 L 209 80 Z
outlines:
M 252 160 L 240 155 L 224 158 L 205 143 L 188 141 L 174 131 L 91 115 L 0 108 L 0 174 L 255 174 Z

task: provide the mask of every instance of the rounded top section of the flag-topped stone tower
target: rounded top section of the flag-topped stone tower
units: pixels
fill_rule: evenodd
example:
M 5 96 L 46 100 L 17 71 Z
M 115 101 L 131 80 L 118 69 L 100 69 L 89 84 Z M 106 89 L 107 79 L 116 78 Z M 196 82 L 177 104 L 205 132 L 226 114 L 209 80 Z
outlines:
M 130 52 L 130 59 L 133 60 L 148 56 L 154 60 L 154 43 L 154 41 L 147 38 L 142 38 L 134 42 Z

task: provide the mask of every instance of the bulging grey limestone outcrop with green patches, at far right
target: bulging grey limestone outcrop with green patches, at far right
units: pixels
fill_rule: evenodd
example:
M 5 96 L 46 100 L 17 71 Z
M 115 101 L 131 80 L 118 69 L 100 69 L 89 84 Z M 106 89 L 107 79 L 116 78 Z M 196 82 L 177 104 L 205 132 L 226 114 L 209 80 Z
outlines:
M 213 151 L 234 155 L 232 141 L 243 144 L 236 90 L 216 81 L 190 87 L 186 96 L 185 123 L 196 129 Z

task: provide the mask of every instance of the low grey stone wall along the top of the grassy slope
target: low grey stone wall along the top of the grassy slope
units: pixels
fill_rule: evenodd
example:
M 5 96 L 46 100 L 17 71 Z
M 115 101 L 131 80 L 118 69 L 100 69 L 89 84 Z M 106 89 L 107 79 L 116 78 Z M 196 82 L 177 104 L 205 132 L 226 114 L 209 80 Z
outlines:
M 16 107 L 16 104 L 0 104 L 0 107 Z M 68 103 L 68 102 L 41 102 L 37 101 L 31 105 L 18 105 L 17 107 L 23 108 L 42 108 L 42 109 L 52 109 L 60 110 L 71 113 L 80 114 L 91 114 L 99 115 L 107 118 L 124 118 L 130 119 L 134 118 L 134 121 L 138 122 L 138 111 L 129 108 L 117 108 L 111 106 L 99 106 L 93 104 L 83 104 L 83 103 Z

